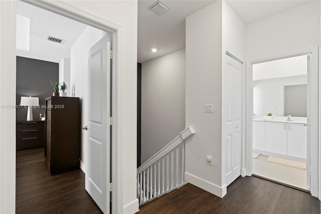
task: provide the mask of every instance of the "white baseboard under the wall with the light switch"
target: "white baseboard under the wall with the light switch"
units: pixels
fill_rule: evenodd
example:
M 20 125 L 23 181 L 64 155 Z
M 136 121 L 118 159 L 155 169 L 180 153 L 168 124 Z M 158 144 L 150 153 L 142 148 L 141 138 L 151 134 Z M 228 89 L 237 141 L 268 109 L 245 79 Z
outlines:
M 226 195 L 226 189 L 227 189 L 226 185 L 224 185 L 223 187 L 220 187 L 206 180 L 203 180 L 199 177 L 196 177 L 195 175 L 191 175 L 187 172 L 185 172 L 185 181 L 197 187 L 200 187 L 201 189 L 204 189 L 205 191 L 208 191 L 221 198 L 224 197 L 224 195 Z

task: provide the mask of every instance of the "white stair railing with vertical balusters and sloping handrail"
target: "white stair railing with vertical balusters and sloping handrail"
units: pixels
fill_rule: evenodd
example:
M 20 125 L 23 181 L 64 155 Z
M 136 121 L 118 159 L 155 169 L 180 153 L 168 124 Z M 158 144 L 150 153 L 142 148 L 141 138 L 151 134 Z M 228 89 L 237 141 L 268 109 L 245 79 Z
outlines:
M 194 134 L 192 127 L 137 169 L 137 198 L 142 205 L 185 184 L 185 140 Z

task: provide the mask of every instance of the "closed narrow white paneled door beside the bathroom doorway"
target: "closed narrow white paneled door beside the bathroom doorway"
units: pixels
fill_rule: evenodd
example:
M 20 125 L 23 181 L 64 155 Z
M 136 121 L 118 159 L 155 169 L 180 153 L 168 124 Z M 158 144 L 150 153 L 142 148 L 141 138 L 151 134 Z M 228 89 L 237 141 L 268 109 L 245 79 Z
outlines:
M 242 63 L 226 55 L 226 185 L 241 175 Z

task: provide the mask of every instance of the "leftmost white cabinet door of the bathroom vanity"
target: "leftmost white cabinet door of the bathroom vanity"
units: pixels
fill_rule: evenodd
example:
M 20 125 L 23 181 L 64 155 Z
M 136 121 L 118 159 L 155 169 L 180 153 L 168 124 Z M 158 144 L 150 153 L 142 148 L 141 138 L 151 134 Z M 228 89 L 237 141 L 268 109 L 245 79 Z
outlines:
M 265 151 L 265 122 L 253 121 L 253 149 Z

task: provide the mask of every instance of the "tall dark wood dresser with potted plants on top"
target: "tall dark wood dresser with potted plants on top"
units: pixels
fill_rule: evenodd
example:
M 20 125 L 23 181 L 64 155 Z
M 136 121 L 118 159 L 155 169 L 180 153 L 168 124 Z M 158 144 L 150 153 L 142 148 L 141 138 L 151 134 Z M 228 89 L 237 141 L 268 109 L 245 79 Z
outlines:
M 46 98 L 45 159 L 52 174 L 79 167 L 79 97 Z

